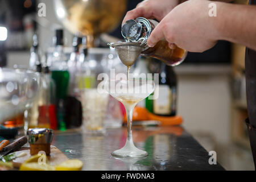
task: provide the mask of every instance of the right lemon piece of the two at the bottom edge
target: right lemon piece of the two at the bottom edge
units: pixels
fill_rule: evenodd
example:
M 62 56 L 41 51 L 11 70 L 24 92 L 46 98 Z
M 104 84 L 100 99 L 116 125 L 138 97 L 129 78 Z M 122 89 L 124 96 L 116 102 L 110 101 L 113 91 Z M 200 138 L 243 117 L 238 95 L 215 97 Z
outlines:
M 55 166 L 56 171 L 81 171 L 82 162 L 78 159 L 67 160 L 57 166 Z

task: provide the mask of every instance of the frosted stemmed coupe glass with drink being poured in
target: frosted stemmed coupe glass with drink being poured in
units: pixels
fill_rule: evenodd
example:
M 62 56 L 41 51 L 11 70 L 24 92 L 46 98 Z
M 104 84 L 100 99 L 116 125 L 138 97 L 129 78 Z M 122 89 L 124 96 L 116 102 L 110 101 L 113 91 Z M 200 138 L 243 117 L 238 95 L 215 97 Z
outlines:
M 113 156 L 121 158 L 140 158 L 147 156 L 146 151 L 134 146 L 132 123 L 133 109 L 144 98 L 150 96 L 155 90 L 153 80 L 110 80 L 107 82 L 108 92 L 116 100 L 122 102 L 127 114 L 127 139 L 126 144 L 119 150 L 112 152 Z

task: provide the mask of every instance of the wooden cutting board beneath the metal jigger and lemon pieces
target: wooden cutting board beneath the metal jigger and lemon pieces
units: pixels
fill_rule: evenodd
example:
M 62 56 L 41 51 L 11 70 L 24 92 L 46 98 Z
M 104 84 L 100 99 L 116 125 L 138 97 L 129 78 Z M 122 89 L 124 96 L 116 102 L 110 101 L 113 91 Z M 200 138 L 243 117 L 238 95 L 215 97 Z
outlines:
M 24 155 L 20 158 L 16 158 L 13 160 L 13 164 L 15 166 L 15 168 L 18 168 L 21 166 L 21 164 L 23 162 L 25 162 L 28 158 L 31 157 L 30 155 L 30 148 L 26 147 L 26 148 L 21 148 L 20 151 L 16 151 L 16 154 L 25 152 L 27 155 Z M 65 156 L 65 154 L 63 154 L 63 152 L 61 152 L 57 147 L 55 146 L 51 146 L 51 154 L 50 156 L 47 156 L 48 158 L 48 162 L 51 166 L 55 166 L 57 164 L 63 163 L 66 160 L 68 160 L 67 156 Z

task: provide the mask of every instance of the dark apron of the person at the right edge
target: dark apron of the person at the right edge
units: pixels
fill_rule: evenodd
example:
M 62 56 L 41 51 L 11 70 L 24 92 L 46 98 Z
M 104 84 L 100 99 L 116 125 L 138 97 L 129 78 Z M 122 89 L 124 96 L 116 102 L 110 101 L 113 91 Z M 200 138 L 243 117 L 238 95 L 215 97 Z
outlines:
M 250 5 L 256 5 L 256 0 L 249 0 Z M 254 30 L 255 31 L 255 30 Z M 246 97 L 249 118 L 246 119 L 249 131 L 251 151 L 256 169 L 256 51 L 246 48 L 245 52 Z

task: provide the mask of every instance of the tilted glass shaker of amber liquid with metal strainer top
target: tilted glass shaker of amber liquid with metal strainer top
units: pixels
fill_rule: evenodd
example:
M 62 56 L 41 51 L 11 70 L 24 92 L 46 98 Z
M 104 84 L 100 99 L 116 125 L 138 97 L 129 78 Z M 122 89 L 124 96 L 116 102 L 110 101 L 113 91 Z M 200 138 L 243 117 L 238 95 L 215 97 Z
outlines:
M 152 19 L 138 17 L 137 19 L 127 20 L 122 26 L 122 36 L 126 42 L 137 42 L 146 44 L 151 32 L 157 26 L 158 22 Z M 187 51 L 177 47 L 168 46 L 167 40 L 160 40 L 154 47 L 145 47 L 141 55 L 150 56 L 162 60 L 167 65 L 179 65 L 187 56 Z

